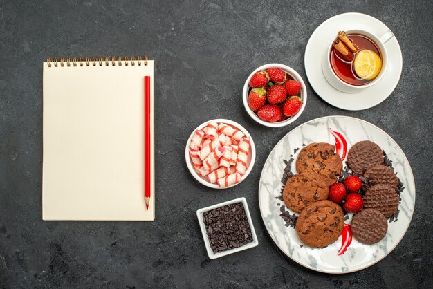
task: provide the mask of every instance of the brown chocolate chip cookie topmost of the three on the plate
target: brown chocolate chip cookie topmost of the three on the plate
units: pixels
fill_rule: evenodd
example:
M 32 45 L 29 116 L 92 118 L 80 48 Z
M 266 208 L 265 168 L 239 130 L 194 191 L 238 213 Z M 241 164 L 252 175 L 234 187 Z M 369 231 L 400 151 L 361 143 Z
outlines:
M 326 177 L 330 187 L 341 174 L 343 164 L 340 156 L 335 154 L 335 146 L 326 142 L 313 142 L 304 147 L 296 160 L 296 170 L 300 174 L 314 171 Z

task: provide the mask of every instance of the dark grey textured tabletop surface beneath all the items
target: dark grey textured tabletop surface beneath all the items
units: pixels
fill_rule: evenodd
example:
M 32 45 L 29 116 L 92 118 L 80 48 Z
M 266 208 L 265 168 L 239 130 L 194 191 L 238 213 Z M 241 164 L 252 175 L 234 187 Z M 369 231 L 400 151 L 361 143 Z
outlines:
M 308 103 L 288 127 L 268 129 L 243 109 L 249 73 L 287 64 L 304 80 L 304 50 L 322 21 L 362 12 L 393 30 L 403 74 L 385 102 L 342 111 L 307 82 Z M 35 287 L 432 286 L 432 1 L 0 1 L 0 284 Z M 42 221 L 42 62 L 46 57 L 145 55 L 156 61 L 156 221 Z M 77 85 L 71 83 L 71 85 Z M 284 257 L 259 213 L 264 161 L 288 131 L 324 115 L 384 129 L 405 151 L 416 182 L 407 234 L 383 261 L 346 275 Z M 185 142 L 212 118 L 243 124 L 257 146 L 252 173 L 216 191 L 187 171 Z M 208 259 L 196 209 L 245 196 L 259 246 Z

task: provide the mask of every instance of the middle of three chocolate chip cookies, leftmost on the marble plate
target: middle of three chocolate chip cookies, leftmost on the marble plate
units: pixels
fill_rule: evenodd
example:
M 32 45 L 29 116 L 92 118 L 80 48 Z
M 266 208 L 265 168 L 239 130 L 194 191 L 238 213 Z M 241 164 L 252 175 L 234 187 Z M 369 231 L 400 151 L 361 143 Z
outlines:
M 325 177 L 316 174 L 297 174 L 289 178 L 284 187 L 283 200 L 288 209 L 300 213 L 311 203 L 328 198 Z

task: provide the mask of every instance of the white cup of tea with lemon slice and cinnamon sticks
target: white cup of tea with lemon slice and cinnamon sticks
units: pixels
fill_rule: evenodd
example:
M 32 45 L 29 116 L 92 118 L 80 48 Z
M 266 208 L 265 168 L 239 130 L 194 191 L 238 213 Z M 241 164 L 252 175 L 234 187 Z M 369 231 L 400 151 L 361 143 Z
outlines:
M 385 43 L 392 37 L 394 34 L 389 30 L 380 37 L 366 30 L 338 32 L 323 57 L 324 77 L 345 93 L 358 93 L 373 86 L 387 71 Z

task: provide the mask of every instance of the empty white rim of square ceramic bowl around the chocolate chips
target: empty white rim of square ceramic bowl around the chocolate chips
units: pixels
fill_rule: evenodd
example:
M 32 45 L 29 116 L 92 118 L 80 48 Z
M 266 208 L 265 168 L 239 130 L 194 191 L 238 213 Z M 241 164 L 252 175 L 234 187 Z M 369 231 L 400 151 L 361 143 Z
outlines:
M 246 245 L 243 245 L 242 247 L 239 247 L 239 248 L 234 248 L 234 249 L 227 250 L 224 252 L 214 253 L 212 248 L 210 248 L 208 234 L 206 232 L 206 226 L 205 226 L 205 223 L 203 222 L 203 213 L 208 212 L 211 209 L 216 209 L 217 207 L 223 207 L 225 205 L 231 205 L 231 204 L 235 204 L 235 203 L 242 203 L 243 204 L 243 209 L 245 210 L 245 214 L 246 214 L 246 217 L 248 218 L 248 223 L 250 224 L 250 228 L 251 228 L 252 242 L 248 243 Z M 203 241 L 205 241 L 206 252 L 208 252 L 208 256 L 210 259 L 216 259 L 219 257 L 224 257 L 224 256 L 227 256 L 227 255 L 230 255 L 230 254 L 233 254 L 236 252 L 240 252 L 243 250 L 247 250 L 247 249 L 250 249 L 250 248 L 253 248 L 253 247 L 256 247 L 257 245 L 259 245 L 259 240 L 257 239 L 257 235 L 256 235 L 256 232 L 254 230 L 254 226 L 252 225 L 250 210 L 248 209 L 248 204 L 246 203 L 245 198 L 235 198 L 232 201 L 227 201 L 224 203 L 212 205 L 210 207 L 203 207 L 203 209 L 198 209 L 197 210 L 197 218 L 199 219 L 201 234 L 203 235 Z

